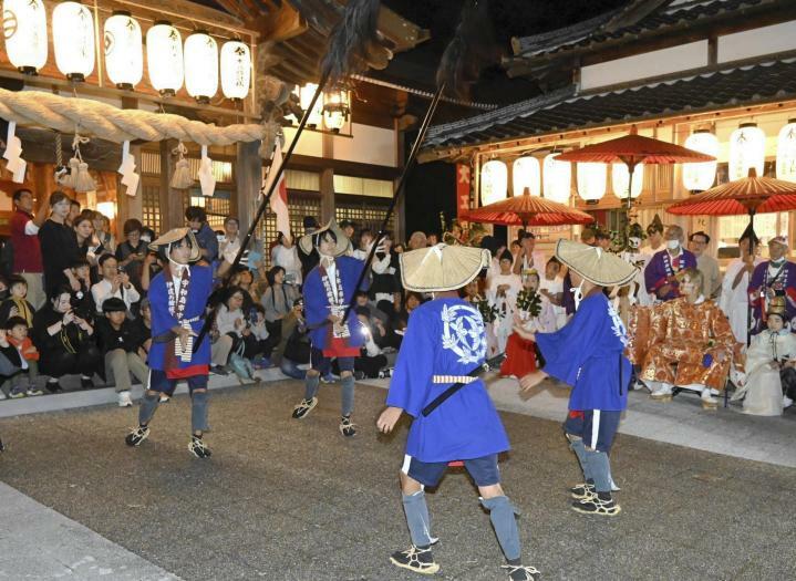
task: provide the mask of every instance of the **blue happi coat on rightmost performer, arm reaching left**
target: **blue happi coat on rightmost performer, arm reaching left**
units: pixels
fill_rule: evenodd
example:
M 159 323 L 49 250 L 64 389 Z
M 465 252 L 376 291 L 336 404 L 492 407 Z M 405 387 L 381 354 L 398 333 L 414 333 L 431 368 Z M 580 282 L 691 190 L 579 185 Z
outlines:
M 628 335 L 601 288 L 578 305 L 571 321 L 555 333 L 536 333 L 544 371 L 572 386 L 569 408 L 621 411 L 628 406 Z

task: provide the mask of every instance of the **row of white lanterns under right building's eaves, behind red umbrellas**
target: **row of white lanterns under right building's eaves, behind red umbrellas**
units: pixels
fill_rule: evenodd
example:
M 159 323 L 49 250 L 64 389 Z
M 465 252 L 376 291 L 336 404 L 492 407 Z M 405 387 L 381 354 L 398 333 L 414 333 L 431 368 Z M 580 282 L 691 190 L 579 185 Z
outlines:
M 730 136 L 728 173 L 730 180 L 741 179 L 754 167 L 758 176 L 763 175 L 765 165 L 766 136 L 754 123 L 744 123 Z M 697 131 L 685 139 L 685 147 L 695 152 L 719 157 L 719 138 L 709 131 Z M 566 204 L 571 189 L 571 169 L 568 162 L 558 162 L 558 154 L 549 154 L 539 163 L 533 156 L 515 159 L 513 174 L 513 191 L 523 195 L 527 187 L 533 196 L 540 196 L 544 190 L 546 198 Z M 717 162 L 683 164 L 683 186 L 692 191 L 702 191 L 713 187 L 716 179 Z M 777 138 L 776 176 L 778 179 L 796 183 L 796 120 L 788 121 Z M 607 164 L 577 164 L 577 188 L 586 201 L 598 201 L 606 195 L 608 177 Z M 630 174 L 624 164 L 611 164 L 611 183 L 613 194 L 619 199 L 628 198 Z M 644 165 L 639 164 L 633 172 L 633 189 L 631 198 L 641 195 L 644 181 Z M 499 159 L 490 159 L 482 166 L 480 174 L 482 205 L 499 201 L 508 193 L 508 167 Z

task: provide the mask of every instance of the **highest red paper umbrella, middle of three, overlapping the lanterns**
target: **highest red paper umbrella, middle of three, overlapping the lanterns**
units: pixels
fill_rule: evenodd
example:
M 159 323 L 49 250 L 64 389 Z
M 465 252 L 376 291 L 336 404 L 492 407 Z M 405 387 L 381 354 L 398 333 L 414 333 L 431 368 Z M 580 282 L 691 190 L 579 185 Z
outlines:
M 628 135 L 562 153 L 556 159 L 559 162 L 602 164 L 622 162 L 626 164 L 630 174 L 628 184 L 628 209 L 630 209 L 630 191 L 633 189 L 633 172 L 637 165 L 714 162 L 715 157 L 694 152 L 682 145 L 644 137 L 638 134 L 638 129 L 633 125 Z

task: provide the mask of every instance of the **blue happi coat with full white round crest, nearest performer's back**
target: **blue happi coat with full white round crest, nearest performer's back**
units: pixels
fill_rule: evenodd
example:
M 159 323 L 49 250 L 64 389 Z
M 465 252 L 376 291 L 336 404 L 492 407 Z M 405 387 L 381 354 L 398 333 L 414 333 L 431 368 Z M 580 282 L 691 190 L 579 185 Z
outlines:
M 427 417 L 422 414 L 451 386 L 433 383 L 433 375 L 467 375 L 485 356 L 484 322 L 469 303 L 436 299 L 412 311 L 386 400 L 414 417 L 406 454 L 422 461 L 451 461 L 509 448 L 480 380 L 462 387 Z

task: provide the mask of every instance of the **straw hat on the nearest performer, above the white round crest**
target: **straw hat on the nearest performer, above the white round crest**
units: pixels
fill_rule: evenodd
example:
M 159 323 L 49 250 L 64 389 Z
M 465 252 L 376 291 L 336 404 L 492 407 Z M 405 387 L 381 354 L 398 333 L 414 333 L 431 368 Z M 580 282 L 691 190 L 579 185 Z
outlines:
M 406 290 L 443 292 L 466 286 L 489 266 L 492 256 L 484 248 L 438 243 L 403 252 L 399 260 Z

